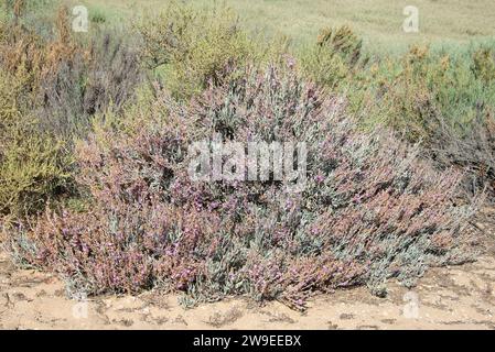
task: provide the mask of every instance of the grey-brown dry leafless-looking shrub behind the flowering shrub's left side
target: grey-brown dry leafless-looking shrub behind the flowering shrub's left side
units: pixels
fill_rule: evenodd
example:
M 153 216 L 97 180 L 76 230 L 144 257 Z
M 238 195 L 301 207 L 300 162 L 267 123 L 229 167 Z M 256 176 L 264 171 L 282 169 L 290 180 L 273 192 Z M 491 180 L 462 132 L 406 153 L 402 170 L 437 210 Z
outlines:
M 40 85 L 40 119 L 69 139 L 84 136 L 95 114 L 120 112 L 142 81 L 137 50 L 118 34 L 100 33 L 83 48 Z

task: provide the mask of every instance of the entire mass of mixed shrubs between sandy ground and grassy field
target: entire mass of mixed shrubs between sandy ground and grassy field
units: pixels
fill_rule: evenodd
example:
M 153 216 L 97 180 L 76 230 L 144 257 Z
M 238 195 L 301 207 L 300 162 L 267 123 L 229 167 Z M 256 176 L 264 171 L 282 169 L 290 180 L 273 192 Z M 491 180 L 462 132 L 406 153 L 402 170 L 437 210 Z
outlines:
M 351 25 L 294 45 L 218 4 L 173 2 L 123 30 L 100 9 L 88 33 L 57 6 L 4 0 L 0 16 L 0 215 L 20 265 L 69 295 L 303 309 L 475 260 L 466 227 L 495 197 L 493 33 L 377 54 Z M 305 141 L 304 191 L 192 183 L 187 146 L 214 133 Z

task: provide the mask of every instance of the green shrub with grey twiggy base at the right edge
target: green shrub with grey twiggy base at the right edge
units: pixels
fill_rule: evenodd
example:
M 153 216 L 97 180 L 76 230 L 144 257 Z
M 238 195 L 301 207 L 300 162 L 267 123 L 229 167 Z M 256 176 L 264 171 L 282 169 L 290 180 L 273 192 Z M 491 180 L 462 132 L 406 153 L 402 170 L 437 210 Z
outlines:
M 483 59 L 484 61 L 483 61 Z M 385 123 L 441 168 L 467 170 L 470 193 L 495 191 L 495 80 L 486 51 L 432 53 L 412 47 L 374 77 L 368 122 Z

